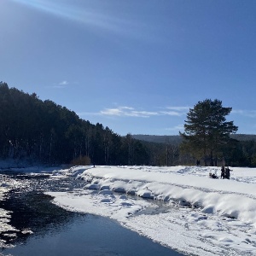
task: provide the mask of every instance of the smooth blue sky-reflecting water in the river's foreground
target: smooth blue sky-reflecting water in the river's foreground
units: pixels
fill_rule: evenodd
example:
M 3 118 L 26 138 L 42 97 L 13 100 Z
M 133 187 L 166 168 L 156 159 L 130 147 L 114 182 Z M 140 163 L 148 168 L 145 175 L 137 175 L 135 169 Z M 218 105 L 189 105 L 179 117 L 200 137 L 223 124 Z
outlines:
M 77 216 L 73 222 L 64 224 L 58 232 L 32 236 L 25 246 L 18 245 L 3 253 L 11 253 L 13 256 L 182 255 L 122 228 L 109 218 L 93 215 Z

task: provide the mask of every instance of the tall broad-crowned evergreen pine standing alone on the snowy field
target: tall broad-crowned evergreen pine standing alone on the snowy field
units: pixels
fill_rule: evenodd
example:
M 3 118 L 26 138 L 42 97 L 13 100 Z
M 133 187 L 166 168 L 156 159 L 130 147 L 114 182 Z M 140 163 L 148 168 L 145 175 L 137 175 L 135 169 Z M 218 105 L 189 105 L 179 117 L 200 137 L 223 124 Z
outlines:
M 181 149 L 192 154 L 197 159 L 203 159 L 207 165 L 207 159 L 213 166 L 217 165 L 218 157 L 222 156 L 224 146 L 230 142 L 230 134 L 236 133 L 238 127 L 233 121 L 226 121 L 226 115 L 232 108 L 222 107 L 219 100 L 207 99 L 198 102 L 194 108 L 189 109 L 185 120 Z

